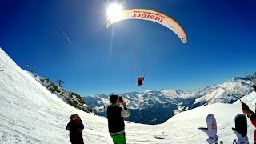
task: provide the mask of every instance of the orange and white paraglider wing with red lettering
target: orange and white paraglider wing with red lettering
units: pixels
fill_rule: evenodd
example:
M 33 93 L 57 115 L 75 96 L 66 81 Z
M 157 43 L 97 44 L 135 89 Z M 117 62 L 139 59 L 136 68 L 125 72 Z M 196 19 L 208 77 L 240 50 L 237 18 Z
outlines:
M 162 14 L 158 11 L 154 10 L 146 10 L 146 9 L 131 9 L 131 10 L 123 10 L 117 17 L 109 18 L 106 22 L 106 27 L 108 28 L 115 22 L 119 22 L 125 19 L 142 19 L 152 22 L 157 22 L 162 26 L 166 26 L 170 30 L 172 30 L 178 37 L 182 40 L 183 43 L 187 42 L 186 33 L 179 26 L 178 22 L 175 22 L 174 19 L 170 18 L 166 14 Z

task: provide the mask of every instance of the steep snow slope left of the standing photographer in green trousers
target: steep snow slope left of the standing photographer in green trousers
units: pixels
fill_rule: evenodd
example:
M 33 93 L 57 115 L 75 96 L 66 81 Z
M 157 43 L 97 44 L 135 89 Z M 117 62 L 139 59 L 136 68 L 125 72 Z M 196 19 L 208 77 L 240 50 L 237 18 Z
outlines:
M 67 105 L 0 49 L 0 143 L 68 143 L 70 114 L 80 114 L 85 142 L 109 143 L 106 118 Z

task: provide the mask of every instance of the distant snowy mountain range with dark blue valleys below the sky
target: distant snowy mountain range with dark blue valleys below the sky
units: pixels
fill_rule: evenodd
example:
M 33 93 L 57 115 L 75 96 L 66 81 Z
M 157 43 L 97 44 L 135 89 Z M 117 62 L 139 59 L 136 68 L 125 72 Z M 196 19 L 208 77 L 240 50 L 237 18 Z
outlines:
M 250 76 L 234 78 L 220 85 L 184 92 L 182 90 L 147 90 L 144 93 L 119 94 L 130 108 L 130 122 L 159 124 L 174 114 L 213 103 L 233 103 L 253 91 Z M 96 114 L 106 116 L 110 95 L 95 94 L 86 97 L 86 104 Z

